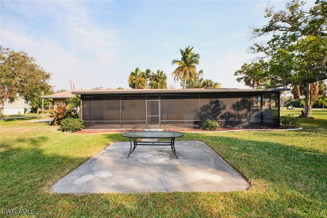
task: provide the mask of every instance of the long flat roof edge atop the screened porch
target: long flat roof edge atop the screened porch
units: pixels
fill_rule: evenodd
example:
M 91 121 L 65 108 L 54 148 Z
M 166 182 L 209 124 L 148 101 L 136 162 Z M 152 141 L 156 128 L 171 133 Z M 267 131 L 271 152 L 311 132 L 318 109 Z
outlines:
M 238 88 L 213 88 L 213 89 L 100 89 L 100 90 L 73 90 L 72 94 L 165 94 L 165 93 L 249 93 L 249 92 L 281 92 L 290 89 L 238 89 Z

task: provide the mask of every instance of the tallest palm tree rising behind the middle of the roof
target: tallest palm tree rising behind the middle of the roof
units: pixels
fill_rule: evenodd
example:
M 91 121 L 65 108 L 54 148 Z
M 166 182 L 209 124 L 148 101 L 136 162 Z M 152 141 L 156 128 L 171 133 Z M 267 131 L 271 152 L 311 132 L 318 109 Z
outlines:
M 184 88 L 186 88 L 186 81 L 194 80 L 198 76 L 196 65 L 199 64 L 200 55 L 192 52 L 193 46 L 185 47 L 185 51 L 179 50 L 182 56 L 181 60 L 173 60 L 172 64 L 177 64 L 177 68 L 172 72 L 174 80 L 181 78 L 184 80 Z

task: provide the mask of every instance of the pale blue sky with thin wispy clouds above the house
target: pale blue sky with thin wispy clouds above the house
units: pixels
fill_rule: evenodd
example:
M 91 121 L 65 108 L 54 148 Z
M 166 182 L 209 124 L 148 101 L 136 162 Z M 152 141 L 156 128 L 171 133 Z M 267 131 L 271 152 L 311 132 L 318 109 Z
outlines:
M 313 1 L 307 1 L 313 4 Z M 169 87 L 179 49 L 194 46 L 197 69 L 223 88 L 248 88 L 234 72 L 248 54 L 250 26 L 287 1 L 0 1 L 1 44 L 27 52 L 52 74 L 54 90 L 129 88 L 136 67 L 163 70 Z

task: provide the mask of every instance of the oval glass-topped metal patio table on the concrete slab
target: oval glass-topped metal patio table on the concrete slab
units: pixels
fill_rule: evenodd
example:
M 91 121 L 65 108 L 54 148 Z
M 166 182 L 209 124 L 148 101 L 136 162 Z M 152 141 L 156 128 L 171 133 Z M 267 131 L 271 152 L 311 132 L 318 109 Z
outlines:
M 130 154 L 136 149 L 137 146 L 171 146 L 173 153 L 176 158 L 175 150 L 175 138 L 182 137 L 184 133 L 175 131 L 134 131 L 123 133 L 123 136 L 129 138 L 131 142 Z M 149 138 L 149 139 L 170 139 L 169 141 L 142 141 L 138 139 Z

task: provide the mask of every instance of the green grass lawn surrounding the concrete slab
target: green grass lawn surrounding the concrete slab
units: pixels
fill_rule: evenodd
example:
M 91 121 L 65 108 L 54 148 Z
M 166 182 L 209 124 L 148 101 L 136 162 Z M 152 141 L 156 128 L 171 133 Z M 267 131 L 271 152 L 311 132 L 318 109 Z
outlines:
M 301 112 L 281 111 L 281 115 L 289 113 Z M 108 144 L 126 140 L 121 133 L 63 133 L 31 120 L 0 120 L 0 213 L 327 217 L 327 110 L 313 110 L 312 117 L 299 118 L 303 129 L 297 131 L 189 132 L 180 139 L 206 142 L 249 180 L 249 190 L 86 195 L 57 194 L 50 189 Z

